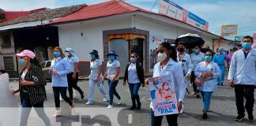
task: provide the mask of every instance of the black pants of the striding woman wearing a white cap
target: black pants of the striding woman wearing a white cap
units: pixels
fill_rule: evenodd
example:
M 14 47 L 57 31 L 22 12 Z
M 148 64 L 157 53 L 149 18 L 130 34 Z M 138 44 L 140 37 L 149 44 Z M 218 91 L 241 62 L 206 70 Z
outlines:
M 73 99 L 73 89 L 77 90 L 80 93 L 80 95 L 82 95 L 83 91 L 81 91 L 81 88 L 77 86 L 78 72 L 77 72 L 77 76 L 76 76 L 75 79 L 72 78 L 73 72 L 70 72 L 66 76 L 67 76 L 67 80 L 68 80 L 68 83 L 69 83 L 70 99 Z

